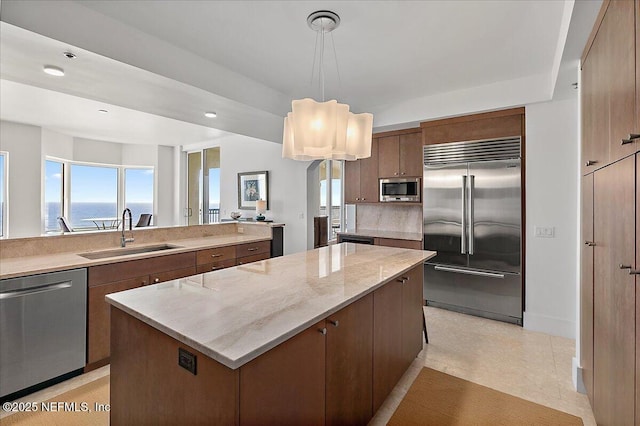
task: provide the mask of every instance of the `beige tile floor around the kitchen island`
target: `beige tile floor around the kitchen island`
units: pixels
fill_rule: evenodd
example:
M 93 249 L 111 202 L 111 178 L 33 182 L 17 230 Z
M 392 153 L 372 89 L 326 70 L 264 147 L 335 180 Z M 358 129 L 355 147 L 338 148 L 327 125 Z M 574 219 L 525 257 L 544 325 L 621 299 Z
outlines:
M 422 367 L 574 414 L 582 417 L 585 426 L 596 424 L 586 395 L 573 389 L 574 340 L 437 308 L 425 308 L 425 313 L 430 343 L 370 425 L 389 421 Z M 107 374 L 109 366 L 31 394 L 22 401 L 46 401 Z M 8 414 L 0 411 L 0 418 Z

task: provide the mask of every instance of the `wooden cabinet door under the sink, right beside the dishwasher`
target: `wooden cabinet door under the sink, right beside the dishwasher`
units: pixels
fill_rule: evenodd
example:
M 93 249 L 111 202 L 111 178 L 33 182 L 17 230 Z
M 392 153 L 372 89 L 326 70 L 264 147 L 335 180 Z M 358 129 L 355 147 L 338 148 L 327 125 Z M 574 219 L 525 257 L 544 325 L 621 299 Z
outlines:
M 149 276 L 141 276 L 111 284 L 89 287 L 87 308 L 87 364 L 109 358 L 110 305 L 104 300 L 107 294 L 130 290 L 149 284 Z M 106 362 L 105 362 L 106 364 Z

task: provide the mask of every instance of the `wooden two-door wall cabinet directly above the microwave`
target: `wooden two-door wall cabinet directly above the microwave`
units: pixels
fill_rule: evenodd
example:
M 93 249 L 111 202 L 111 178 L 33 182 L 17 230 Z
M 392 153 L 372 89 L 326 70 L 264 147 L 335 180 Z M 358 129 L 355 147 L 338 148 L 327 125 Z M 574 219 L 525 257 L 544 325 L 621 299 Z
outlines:
M 378 139 L 379 177 L 422 176 L 422 136 L 415 130 Z

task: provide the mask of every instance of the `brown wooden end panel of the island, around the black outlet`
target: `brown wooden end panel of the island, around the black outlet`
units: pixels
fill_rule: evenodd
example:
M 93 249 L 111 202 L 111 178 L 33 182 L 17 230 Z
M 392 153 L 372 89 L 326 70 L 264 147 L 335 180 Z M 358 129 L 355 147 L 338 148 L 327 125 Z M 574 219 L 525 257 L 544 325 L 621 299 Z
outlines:
M 110 424 L 238 423 L 238 370 L 111 307 Z M 178 365 L 178 349 L 196 356 L 196 375 Z

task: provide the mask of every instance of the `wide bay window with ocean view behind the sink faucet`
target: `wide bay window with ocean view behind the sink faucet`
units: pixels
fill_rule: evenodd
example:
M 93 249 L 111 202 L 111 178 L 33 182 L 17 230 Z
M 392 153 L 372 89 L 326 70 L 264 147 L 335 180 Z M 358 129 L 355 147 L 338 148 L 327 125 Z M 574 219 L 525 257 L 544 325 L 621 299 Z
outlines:
M 45 160 L 44 231 L 59 232 L 65 216 L 74 230 L 115 228 L 125 207 L 133 225 L 142 213 L 153 214 L 154 170 Z M 128 223 L 127 223 L 128 225 Z

